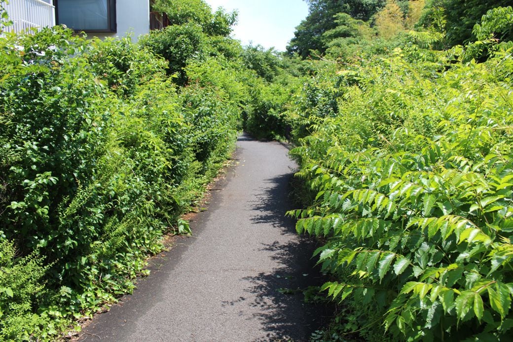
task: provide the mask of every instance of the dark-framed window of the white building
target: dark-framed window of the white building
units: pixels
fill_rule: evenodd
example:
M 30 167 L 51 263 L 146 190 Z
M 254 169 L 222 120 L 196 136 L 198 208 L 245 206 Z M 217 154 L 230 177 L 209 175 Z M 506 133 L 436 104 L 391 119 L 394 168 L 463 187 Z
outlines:
M 116 32 L 115 0 L 57 0 L 57 24 L 75 31 Z

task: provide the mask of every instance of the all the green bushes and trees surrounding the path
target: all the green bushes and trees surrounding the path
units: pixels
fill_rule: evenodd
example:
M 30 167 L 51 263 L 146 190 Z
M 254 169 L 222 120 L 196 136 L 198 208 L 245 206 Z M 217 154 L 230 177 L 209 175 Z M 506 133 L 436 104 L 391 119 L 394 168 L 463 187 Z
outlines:
M 298 146 L 310 203 L 289 215 L 338 304 L 314 339 L 507 340 L 513 9 L 308 5 L 287 54 L 201 0 L 155 1 L 171 26 L 136 45 L 0 38 L 0 339 L 133 289 L 243 126 Z

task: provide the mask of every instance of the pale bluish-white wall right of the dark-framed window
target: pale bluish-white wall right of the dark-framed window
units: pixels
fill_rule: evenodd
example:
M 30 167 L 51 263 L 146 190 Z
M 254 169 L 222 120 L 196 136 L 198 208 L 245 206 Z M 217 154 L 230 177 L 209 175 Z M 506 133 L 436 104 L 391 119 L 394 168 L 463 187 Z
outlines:
M 149 0 L 116 0 L 116 33 L 88 33 L 92 37 L 125 36 L 132 32 L 132 41 L 141 34 L 150 32 L 150 2 Z

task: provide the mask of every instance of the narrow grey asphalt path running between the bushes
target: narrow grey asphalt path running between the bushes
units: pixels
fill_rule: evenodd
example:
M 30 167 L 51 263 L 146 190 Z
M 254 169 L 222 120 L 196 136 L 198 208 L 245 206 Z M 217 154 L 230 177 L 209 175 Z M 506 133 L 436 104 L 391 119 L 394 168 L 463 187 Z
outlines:
M 242 135 L 208 210 L 152 262 L 134 294 L 98 315 L 81 340 L 306 341 L 319 327 L 303 294 L 319 279 L 312 243 L 284 216 L 296 165 L 278 142 Z M 287 290 L 288 289 L 288 290 Z

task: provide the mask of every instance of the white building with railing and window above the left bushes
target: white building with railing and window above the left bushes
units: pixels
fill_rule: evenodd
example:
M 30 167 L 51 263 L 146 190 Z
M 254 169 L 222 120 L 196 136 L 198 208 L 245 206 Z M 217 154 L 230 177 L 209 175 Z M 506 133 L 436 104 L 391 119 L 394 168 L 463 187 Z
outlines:
M 64 24 L 89 37 L 124 36 L 136 40 L 150 31 L 149 0 L 10 0 L 4 5 L 19 32 Z

